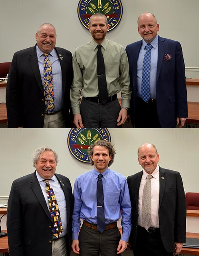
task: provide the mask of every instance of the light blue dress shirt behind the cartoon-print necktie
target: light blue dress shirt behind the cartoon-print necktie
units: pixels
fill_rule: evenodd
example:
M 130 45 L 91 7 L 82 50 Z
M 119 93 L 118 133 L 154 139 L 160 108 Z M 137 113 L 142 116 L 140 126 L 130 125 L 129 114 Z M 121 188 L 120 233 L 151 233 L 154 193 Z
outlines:
M 41 178 L 41 176 L 38 174 L 37 171 L 36 171 L 36 176 L 37 176 L 37 179 L 39 181 L 39 185 L 41 187 L 43 196 L 45 198 L 47 207 L 49 209 L 48 197 L 47 197 L 47 194 L 46 194 L 46 184 L 43 181 L 44 179 Z M 64 192 L 61 188 L 61 185 L 60 185 L 60 183 L 57 180 L 57 177 L 55 175 L 49 180 L 49 184 L 51 184 L 51 186 L 53 188 L 53 191 L 54 191 L 56 199 L 57 199 L 57 203 L 59 205 L 60 217 L 61 217 L 62 227 L 63 227 L 63 232 L 61 233 L 60 237 L 62 237 L 62 236 L 65 236 L 66 233 L 67 233 L 66 199 L 65 199 Z M 50 213 L 49 213 L 49 215 L 50 215 Z

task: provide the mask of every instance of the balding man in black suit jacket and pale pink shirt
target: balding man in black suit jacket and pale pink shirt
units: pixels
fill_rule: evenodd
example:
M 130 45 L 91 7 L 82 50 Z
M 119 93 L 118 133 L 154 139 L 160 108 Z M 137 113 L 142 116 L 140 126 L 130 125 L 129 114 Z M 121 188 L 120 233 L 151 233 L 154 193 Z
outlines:
M 142 172 L 127 178 L 132 206 L 130 243 L 134 256 L 172 256 L 181 251 L 185 242 L 186 205 L 179 172 L 158 166 L 159 154 L 152 144 L 138 149 Z M 143 190 L 151 174 L 150 227 L 144 228 Z M 142 200 L 143 199 L 143 200 Z

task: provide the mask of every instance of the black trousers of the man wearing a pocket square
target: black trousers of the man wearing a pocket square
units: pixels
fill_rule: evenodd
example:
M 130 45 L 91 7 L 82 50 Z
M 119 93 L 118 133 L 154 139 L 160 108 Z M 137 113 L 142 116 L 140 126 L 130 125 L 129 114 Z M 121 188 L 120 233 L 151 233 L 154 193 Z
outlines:
M 158 118 L 156 100 L 149 103 L 142 98 L 135 100 L 135 128 L 162 128 Z

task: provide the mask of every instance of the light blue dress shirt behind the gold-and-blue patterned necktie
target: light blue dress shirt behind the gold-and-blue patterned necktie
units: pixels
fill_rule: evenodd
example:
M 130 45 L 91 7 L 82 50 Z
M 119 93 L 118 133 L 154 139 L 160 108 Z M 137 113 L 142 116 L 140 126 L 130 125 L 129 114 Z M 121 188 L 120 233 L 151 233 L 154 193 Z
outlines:
M 39 49 L 39 47 L 36 47 L 37 51 L 37 59 L 39 63 L 39 71 L 41 74 L 41 80 L 43 84 L 43 63 L 45 56 L 43 55 L 43 51 Z M 51 62 L 52 66 L 52 72 L 53 72 L 53 91 L 54 91 L 54 102 L 55 102 L 55 109 L 54 111 L 59 111 L 63 109 L 63 91 L 62 91 L 62 71 L 60 66 L 60 61 L 57 56 L 57 52 L 55 51 L 55 48 L 53 51 L 49 53 L 49 61 Z

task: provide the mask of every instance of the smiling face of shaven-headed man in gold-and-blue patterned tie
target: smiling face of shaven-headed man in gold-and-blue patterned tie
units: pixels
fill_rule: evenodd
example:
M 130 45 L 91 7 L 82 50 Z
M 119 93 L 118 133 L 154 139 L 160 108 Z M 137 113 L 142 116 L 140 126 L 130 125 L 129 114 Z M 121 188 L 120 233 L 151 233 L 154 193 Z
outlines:
M 45 24 L 41 26 L 35 38 L 39 49 L 44 53 L 50 53 L 55 48 L 57 35 L 52 25 Z

